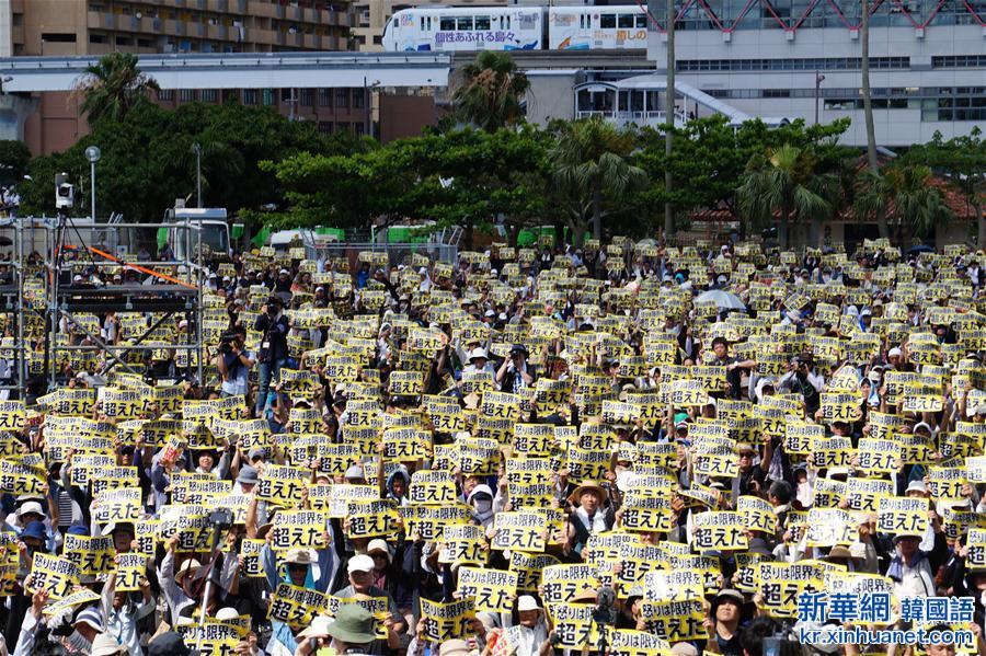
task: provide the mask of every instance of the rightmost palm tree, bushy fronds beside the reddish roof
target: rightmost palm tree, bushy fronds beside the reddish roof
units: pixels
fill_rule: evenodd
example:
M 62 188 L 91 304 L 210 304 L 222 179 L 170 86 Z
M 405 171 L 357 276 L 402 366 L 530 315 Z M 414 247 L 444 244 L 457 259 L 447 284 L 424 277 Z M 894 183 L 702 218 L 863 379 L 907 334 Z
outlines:
M 856 216 L 891 216 L 901 232 L 927 237 L 952 218 L 952 210 L 930 182 L 931 169 L 924 164 L 895 164 L 883 173 L 863 171 L 853 203 Z

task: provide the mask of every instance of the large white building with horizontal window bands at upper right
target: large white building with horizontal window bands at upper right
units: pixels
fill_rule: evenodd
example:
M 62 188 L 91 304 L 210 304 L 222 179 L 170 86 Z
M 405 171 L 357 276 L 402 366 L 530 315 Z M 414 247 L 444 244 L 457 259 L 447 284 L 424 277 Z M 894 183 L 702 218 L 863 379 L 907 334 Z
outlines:
M 865 143 L 853 0 L 677 0 L 677 79 L 754 116 L 848 116 Z M 650 0 L 647 58 L 665 69 L 664 0 Z M 986 0 L 871 0 L 876 141 L 986 129 Z M 816 80 L 817 89 L 816 89 Z M 691 106 L 681 99 L 685 107 Z M 702 115 L 701 107 L 699 115 Z

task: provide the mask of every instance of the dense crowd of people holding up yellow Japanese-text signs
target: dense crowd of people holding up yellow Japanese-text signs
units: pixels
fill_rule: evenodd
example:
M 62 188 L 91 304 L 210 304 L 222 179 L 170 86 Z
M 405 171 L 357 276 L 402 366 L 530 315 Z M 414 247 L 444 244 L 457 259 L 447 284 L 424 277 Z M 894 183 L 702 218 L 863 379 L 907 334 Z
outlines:
M 984 255 L 839 246 L 238 253 L 198 354 L 77 314 L 0 402 L 3 649 L 986 656 Z

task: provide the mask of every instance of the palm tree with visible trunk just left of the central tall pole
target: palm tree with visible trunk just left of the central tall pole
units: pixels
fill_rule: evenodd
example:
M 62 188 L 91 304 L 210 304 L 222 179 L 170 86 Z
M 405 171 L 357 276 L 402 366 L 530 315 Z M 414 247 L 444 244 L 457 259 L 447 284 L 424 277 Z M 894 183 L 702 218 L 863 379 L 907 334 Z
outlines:
M 554 188 L 570 209 L 575 244 L 582 245 L 592 220 L 593 237 L 603 235 L 603 202 L 646 184 L 647 174 L 630 163 L 637 136 L 592 116 L 560 125 L 558 141 L 548 154 Z

